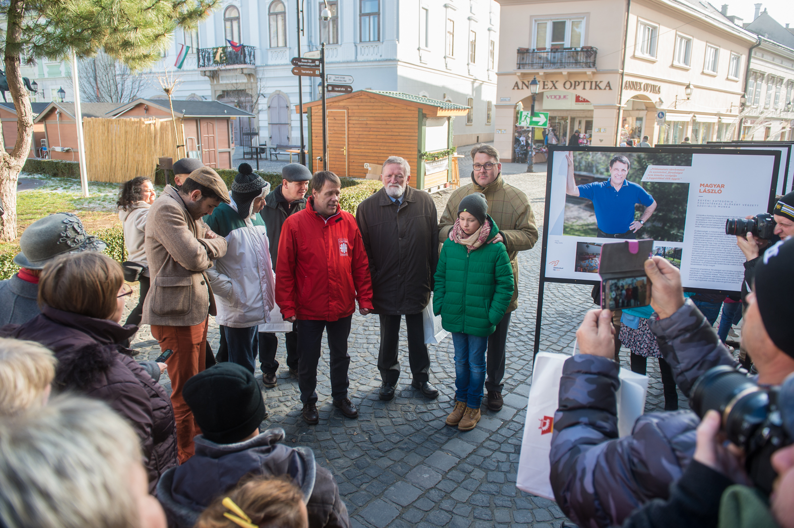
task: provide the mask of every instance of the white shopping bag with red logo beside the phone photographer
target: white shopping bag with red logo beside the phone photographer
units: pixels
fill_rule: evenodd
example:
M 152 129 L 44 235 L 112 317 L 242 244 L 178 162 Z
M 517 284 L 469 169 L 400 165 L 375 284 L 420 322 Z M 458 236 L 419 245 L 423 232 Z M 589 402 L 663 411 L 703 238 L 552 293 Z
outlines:
M 554 500 L 554 492 L 549 481 L 549 453 L 554 413 L 559 407 L 562 365 L 570 357 L 569 354 L 551 352 L 538 352 L 535 357 L 521 455 L 518 458 L 516 488 L 551 500 Z M 645 411 L 648 377 L 622 367 L 618 377 L 618 432 L 620 436 L 626 436 Z

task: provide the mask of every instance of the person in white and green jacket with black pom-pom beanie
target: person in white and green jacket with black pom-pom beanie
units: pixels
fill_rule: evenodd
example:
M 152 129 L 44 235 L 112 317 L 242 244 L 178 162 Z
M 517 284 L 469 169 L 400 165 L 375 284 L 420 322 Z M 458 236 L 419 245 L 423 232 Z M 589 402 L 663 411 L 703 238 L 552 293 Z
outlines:
M 259 212 L 270 186 L 248 163 L 241 163 L 232 184 L 231 203 L 221 204 L 204 223 L 226 239 L 226 254 L 206 270 L 229 350 L 229 362 L 251 373 L 256 368 L 259 325 L 276 306 L 268 234 Z

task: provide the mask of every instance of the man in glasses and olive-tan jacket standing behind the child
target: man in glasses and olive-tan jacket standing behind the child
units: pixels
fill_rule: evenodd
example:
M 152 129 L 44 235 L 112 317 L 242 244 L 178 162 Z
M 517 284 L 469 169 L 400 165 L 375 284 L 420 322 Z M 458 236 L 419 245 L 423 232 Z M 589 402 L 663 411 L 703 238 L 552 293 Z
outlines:
M 488 359 L 486 363 L 485 390 L 488 392 L 488 408 L 499 411 L 502 408 L 502 377 L 505 367 L 505 346 L 507 343 L 507 327 L 510 316 L 518 308 L 518 251 L 532 249 L 538 241 L 538 228 L 532 206 L 525 193 L 508 185 L 502 179 L 502 164 L 499 163 L 499 151 L 491 145 L 478 145 L 472 148 L 472 183 L 461 186 L 449 197 L 441 222 L 438 224 L 438 240 L 449 237 L 457 218 L 457 206 L 465 196 L 472 193 L 483 193 L 488 201 L 488 213 L 499 226 L 499 234 L 491 243 L 502 242 L 507 247 L 510 263 L 513 266 L 513 298 L 507 307 L 496 330 L 488 338 Z

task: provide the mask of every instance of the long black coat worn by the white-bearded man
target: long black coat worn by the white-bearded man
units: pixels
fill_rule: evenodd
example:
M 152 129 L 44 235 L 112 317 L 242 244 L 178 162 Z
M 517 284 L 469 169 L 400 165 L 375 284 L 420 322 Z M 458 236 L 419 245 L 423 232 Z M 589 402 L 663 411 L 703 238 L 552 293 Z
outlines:
M 397 205 L 383 187 L 360 203 L 356 222 L 369 258 L 375 313 L 422 312 L 430 301 L 438 262 L 433 198 L 409 186 Z

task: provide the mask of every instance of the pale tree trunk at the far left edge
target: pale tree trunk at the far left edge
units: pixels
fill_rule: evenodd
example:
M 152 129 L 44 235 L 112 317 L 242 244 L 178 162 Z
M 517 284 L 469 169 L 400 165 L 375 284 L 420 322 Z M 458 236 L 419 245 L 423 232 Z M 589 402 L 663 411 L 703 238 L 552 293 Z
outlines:
M 0 239 L 6 242 L 17 239 L 17 178 L 28 158 L 33 136 L 33 110 L 30 95 L 25 89 L 20 70 L 20 38 L 24 17 L 25 0 L 11 0 L 6 13 L 6 80 L 11 99 L 17 110 L 17 143 L 11 153 L 5 148 L 0 152 L 0 200 L 5 214 L 0 220 Z

